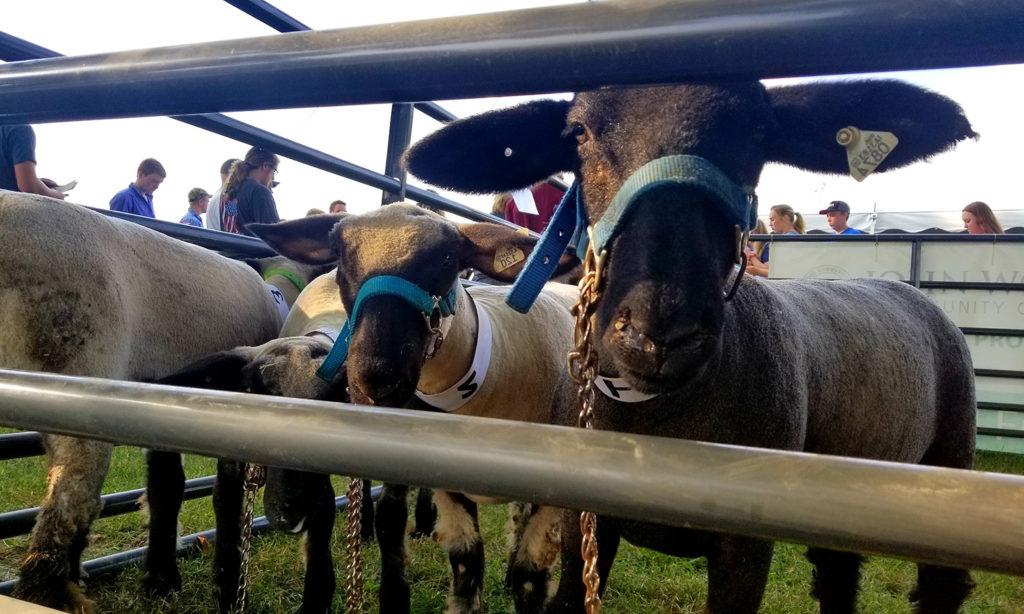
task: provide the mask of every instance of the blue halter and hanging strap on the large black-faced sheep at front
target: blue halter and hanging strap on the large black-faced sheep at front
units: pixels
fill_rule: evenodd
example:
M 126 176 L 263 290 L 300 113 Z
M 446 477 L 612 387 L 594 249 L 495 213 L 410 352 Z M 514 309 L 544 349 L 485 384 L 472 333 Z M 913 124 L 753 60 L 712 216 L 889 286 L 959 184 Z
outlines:
M 699 156 L 666 156 L 637 169 L 618 188 L 607 211 L 594 223 L 591 233 L 594 252 L 600 254 L 611 242 L 637 199 L 651 189 L 667 185 L 692 187 L 712 196 L 729 220 L 743 231 L 753 229 L 757 224 L 758 201 L 753 190 L 736 185 L 718 167 Z M 577 181 L 558 204 L 540 243 L 505 299 L 512 309 L 520 313 L 529 311 L 567 248 L 573 247 L 577 256 L 583 260 L 590 243 L 587 236 L 589 224 Z

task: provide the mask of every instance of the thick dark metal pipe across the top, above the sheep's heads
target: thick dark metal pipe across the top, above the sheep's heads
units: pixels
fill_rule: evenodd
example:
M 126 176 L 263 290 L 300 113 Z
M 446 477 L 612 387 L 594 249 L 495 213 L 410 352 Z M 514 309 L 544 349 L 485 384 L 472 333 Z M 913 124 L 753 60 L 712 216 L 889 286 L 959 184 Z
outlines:
M 1016 63 L 1021 32 L 1020 0 L 587 2 L 19 62 L 0 123 Z

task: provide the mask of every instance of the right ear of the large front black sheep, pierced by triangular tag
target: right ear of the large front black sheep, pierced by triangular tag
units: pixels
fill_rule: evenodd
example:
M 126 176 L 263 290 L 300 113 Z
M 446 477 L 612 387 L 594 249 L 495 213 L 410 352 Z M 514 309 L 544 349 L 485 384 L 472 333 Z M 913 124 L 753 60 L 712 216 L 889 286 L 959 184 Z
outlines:
M 901 81 L 838 81 L 768 90 L 775 128 L 768 160 L 820 173 L 849 172 L 841 128 L 892 132 L 899 144 L 876 172 L 897 169 L 978 135 L 949 98 Z

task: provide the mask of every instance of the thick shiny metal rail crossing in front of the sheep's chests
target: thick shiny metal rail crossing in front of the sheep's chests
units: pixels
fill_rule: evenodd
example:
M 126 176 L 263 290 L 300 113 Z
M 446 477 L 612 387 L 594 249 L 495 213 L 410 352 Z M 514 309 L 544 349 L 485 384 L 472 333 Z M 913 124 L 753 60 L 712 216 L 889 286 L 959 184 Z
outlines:
M 1024 575 L 1019 476 L 10 370 L 0 424 Z

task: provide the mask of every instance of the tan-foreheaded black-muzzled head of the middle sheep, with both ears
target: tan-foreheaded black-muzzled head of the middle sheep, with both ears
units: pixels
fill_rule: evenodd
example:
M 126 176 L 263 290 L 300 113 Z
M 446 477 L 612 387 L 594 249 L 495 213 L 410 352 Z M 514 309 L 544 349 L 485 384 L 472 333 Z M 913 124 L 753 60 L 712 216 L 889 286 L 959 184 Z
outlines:
M 293 260 L 336 263 L 348 313 L 362 284 L 378 275 L 402 277 L 438 297 L 452 290 L 466 268 L 511 281 L 537 245 L 536 238 L 506 226 L 456 225 L 401 203 L 362 215 L 311 216 L 249 228 Z M 509 253 L 516 255 L 511 262 L 498 257 Z M 577 264 L 575 258 L 563 257 L 555 274 Z M 424 315 L 404 300 L 375 296 L 361 303 L 346 366 L 352 401 L 392 407 L 409 402 L 431 341 Z

